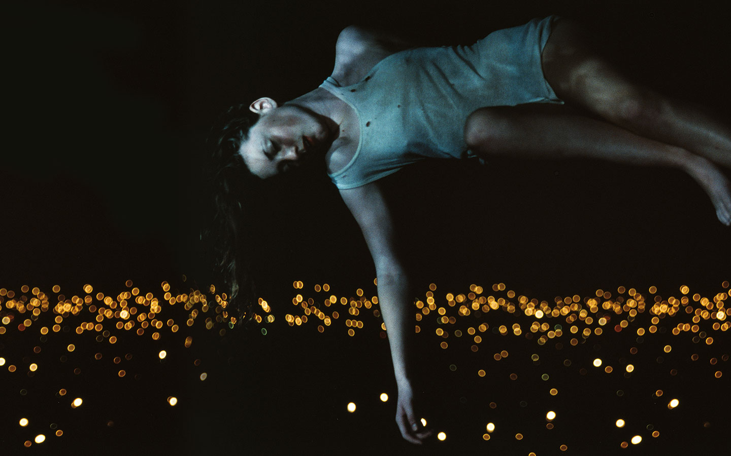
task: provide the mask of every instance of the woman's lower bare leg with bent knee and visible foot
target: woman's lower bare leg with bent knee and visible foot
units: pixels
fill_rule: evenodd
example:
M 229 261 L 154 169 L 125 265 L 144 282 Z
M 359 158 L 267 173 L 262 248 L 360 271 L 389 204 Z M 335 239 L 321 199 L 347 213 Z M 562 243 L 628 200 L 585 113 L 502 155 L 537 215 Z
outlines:
M 473 152 L 483 157 L 586 157 L 681 169 L 708 193 L 721 223 L 731 224 L 731 184 L 713 163 L 682 147 L 577 115 L 567 107 L 523 105 L 478 109 L 467 119 L 465 141 Z

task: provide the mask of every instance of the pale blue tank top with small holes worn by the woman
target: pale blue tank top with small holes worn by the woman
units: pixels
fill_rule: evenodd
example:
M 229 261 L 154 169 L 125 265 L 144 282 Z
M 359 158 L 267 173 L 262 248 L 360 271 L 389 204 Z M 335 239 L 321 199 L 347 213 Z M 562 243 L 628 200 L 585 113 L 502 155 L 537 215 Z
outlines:
M 328 77 L 320 87 L 355 109 L 360 125 L 355 155 L 330 179 L 356 188 L 425 158 L 466 158 L 464 124 L 476 109 L 563 103 L 541 69 L 554 19 L 494 31 L 471 46 L 404 50 L 347 87 Z

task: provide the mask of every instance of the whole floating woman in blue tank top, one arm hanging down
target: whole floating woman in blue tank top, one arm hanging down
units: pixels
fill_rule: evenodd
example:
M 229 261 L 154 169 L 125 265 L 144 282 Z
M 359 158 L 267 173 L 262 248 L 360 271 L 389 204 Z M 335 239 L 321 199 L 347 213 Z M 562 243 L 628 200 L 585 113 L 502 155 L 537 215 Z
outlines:
M 587 42 L 580 27 L 556 16 L 457 47 L 412 47 L 349 26 L 338 36 L 333 73 L 318 88 L 281 105 L 259 98 L 230 109 L 214 158 L 217 220 L 228 233 L 219 239 L 219 263 L 232 299 L 243 300 L 247 283 L 237 241 L 245 238 L 242 201 L 232 186 L 324 160 L 376 266 L 398 385 L 396 422 L 418 444 L 431 431 L 414 398 L 409 275 L 379 179 L 425 158 L 491 155 L 672 166 L 701 185 L 730 225 L 731 185 L 717 165 L 731 167 L 731 126 L 627 80 Z

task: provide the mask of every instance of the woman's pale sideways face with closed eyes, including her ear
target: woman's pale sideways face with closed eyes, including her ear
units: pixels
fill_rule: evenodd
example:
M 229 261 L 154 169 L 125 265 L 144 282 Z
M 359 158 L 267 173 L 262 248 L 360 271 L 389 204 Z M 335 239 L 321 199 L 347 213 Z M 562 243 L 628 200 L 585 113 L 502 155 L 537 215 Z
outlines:
M 271 98 L 251 104 L 260 115 L 239 148 L 244 163 L 262 179 L 300 166 L 322 148 L 328 132 L 314 113 L 294 105 L 278 107 Z

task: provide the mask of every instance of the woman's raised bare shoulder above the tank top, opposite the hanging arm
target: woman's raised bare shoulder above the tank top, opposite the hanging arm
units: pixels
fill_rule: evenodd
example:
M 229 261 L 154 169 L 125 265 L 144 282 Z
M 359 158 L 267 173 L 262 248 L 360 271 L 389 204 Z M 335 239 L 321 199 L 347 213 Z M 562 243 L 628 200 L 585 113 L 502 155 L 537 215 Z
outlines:
M 341 85 L 355 84 L 376 63 L 409 47 L 413 47 L 412 44 L 398 34 L 363 26 L 347 26 L 338 35 L 335 45 L 332 77 Z

